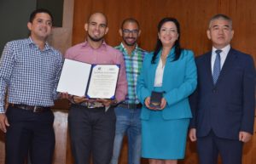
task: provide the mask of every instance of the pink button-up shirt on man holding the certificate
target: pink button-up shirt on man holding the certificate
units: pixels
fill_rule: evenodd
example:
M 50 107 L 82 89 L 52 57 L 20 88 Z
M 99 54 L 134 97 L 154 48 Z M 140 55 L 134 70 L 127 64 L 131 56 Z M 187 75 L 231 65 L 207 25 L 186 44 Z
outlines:
M 100 48 L 91 48 L 88 42 L 82 42 L 72 48 L 68 48 L 65 58 L 89 64 L 120 65 L 115 98 L 118 102 L 125 100 L 125 95 L 127 94 L 125 61 L 119 50 L 108 46 L 106 42 L 103 42 Z

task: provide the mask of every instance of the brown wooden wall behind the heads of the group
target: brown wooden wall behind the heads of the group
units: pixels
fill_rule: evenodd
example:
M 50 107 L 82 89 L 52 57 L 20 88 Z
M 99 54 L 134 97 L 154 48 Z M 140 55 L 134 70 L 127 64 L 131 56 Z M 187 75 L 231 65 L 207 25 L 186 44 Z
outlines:
M 255 59 L 256 14 L 253 10 L 256 2 L 247 0 L 77 0 L 74 3 L 73 44 L 84 42 L 84 23 L 91 13 L 102 12 L 108 16 L 107 42 L 119 44 L 119 26 L 127 17 L 139 20 L 142 35 L 139 44 L 148 51 L 154 49 L 157 35 L 156 26 L 161 18 L 176 17 L 181 24 L 181 42 L 183 48 L 192 49 L 196 55 L 211 48 L 206 31 L 208 20 L 213 14 L 228 14 L 233 19 L 235 37 L 234 48 L 253 54 Z M 254 12 L 254 13 L 253 13 Z

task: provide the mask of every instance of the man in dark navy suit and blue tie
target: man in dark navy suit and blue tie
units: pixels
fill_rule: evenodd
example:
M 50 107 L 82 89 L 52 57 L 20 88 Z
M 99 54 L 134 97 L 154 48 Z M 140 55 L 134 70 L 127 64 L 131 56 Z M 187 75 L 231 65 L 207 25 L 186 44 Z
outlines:
M 218 155 L 223 164 L 241 164 L 242 144 L 253 134 L 253 59 L 230 47 L 233 35 L 228 16 L 213 16 L 207 30 L 212 51 L 196 59 L 189 139 L 197 141 L 200 164 L 217 164 Z

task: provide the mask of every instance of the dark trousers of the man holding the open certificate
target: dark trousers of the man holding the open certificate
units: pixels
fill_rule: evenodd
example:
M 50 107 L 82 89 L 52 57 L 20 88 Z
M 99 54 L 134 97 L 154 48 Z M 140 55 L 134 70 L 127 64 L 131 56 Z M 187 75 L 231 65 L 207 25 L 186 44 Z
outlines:
M 71 148 L 75 164 L 109 164 L 115 133 L 113 107 L 86 108 L 72 105 L 68 115 Z

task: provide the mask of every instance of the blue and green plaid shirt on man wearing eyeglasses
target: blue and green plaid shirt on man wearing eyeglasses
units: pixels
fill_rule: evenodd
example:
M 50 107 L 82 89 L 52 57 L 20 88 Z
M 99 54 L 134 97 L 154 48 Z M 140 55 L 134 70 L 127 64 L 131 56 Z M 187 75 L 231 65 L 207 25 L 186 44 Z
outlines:
M 136 46 L 130 56 L 123 43 L 120 43 L 120 45 L 115 48 L 119 49 L 125 59 L 126 80 L 128 82 L 128 94 L 126 95 L 125 103 L 139 104 L 136 94 L 137 76 L 142 69 L 143 58 L 144 55 L 147 54 L 147 51 Z

